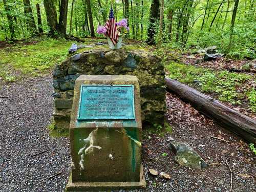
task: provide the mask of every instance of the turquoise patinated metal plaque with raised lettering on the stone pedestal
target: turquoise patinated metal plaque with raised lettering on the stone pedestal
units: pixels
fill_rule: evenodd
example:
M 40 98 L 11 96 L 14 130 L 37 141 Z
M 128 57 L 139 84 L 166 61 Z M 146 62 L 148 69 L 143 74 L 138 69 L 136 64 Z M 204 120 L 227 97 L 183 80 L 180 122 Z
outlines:
M 77 119 L 135 119 L 134 86 L 83 84 Z

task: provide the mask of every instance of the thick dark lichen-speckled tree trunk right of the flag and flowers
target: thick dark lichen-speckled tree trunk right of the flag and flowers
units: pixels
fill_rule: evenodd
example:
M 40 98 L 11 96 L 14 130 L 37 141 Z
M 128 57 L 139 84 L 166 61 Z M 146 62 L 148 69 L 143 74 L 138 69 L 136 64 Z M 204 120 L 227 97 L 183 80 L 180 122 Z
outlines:
M 159 0 L 152 0 L 150 8 L 150 23 L 147 28 L 147 44 L 155 45 L 156 41 L 154 36 L 156 34 L 156 23 L 159 19 Z

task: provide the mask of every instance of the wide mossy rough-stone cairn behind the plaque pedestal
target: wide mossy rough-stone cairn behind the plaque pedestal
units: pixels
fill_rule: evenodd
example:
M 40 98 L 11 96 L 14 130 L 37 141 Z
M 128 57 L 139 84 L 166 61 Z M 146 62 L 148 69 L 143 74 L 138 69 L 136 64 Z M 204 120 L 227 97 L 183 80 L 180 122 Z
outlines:
M 143 126 L 164 122 L 165 84 L 161 59 L 140 46 L 110 50 L 106 46 L 87 46 L 53 72 L 54 121 L 56 129 L 69 129 L 74 83 L 81 75 L 134 75 L 139 79 Z

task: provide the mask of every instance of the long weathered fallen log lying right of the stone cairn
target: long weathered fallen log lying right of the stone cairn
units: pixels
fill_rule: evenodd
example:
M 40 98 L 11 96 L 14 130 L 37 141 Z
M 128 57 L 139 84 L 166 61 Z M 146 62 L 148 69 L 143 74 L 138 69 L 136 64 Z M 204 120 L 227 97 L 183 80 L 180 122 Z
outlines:
M 174 92 L 182 100 L 189 102 L 201 114 L 239 135 L 245 141 L 256 144 L 256 121 L 252 118 L 177 80 L 165 77 L 165 84 L 167 91 Z

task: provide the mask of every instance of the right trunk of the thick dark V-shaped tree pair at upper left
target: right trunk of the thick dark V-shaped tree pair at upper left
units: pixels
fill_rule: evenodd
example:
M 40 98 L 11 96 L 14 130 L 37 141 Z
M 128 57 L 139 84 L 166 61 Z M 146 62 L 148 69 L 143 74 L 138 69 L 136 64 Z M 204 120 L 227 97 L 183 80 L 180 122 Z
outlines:
M 59 10 L 59 24 L 57 26 L 58 32 L 66 36 L 67 29 L 67 17 L 68 17 L 68 0 L 61 0 L 60 10 Z

